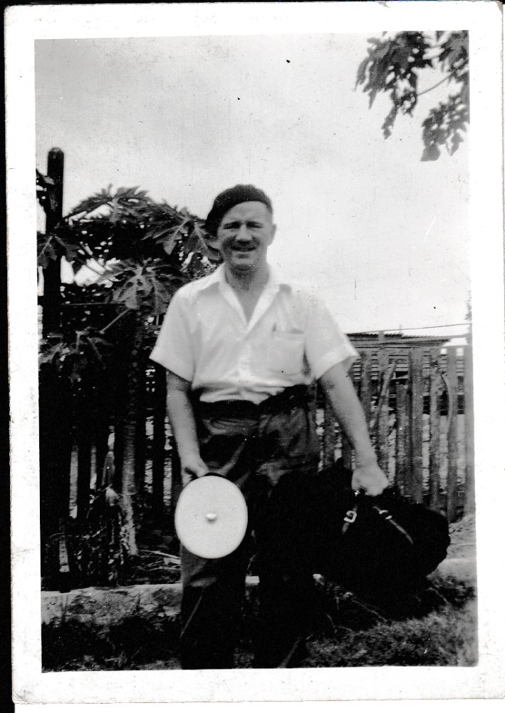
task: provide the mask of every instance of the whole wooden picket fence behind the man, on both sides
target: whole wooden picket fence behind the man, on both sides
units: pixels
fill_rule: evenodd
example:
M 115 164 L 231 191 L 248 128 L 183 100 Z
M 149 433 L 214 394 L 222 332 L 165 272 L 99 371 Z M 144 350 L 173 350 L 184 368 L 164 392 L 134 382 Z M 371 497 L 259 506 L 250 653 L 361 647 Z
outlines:
M 360 349 L 352 371 L 380 466 L 390 483 L 412 501 L 445 513 L 450 521 L 472 510 L 474 503 L 469 354 L 469 347 L 395 349 L 381 344 Z M 51 369 L 41 371 L 43 572 L 51 570 L 54 558 L 60 574 L 62 567 L 65 570 L 68 532 L 96 517 L 92 505 L 97 493 L 107 485 L 123 491 L 128 424 L 122 394 L 127 378 L 116 361 L 100 383 L 80 384 L 76 392 L 68 379 Z M 135 526 L 144 535 L 146 528 L 170 532 L 180 477 L 166 416 L 165 370 L 139 359 L 137 378 L 142 398 L 135 408 L 135 462 L 130 463 L 135 472 L 135 492 L 130 493 Z M 323 394 L 314 395 L 321 466 L 340 456 L 352 466 L 352 449 Z M 104 543 L 97 541 L 95 546 L 108 546 Z M 87 546 L 91 548 L 89 541 Z

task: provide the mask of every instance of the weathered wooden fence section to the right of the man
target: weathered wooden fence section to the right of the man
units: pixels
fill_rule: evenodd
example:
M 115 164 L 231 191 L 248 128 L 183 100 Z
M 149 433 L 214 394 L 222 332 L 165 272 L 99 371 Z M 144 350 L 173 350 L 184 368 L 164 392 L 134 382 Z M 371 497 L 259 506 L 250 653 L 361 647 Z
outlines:
M 474 507 L 472 363 L 464 347 L 360 350 L 352 371 L 382 470 L 412 501 L 449 521 Z M 322 463 L 353 464 L 328 404 Z

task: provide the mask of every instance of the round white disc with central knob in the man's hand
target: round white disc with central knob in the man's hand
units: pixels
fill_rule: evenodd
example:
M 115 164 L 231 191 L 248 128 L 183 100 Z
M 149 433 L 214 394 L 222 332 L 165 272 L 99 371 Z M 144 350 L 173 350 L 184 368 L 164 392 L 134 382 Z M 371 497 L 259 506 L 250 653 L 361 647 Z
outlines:
M 182 545 L 206 559 L 236 550 L 247 528 L 247 505 L 239 488 L 221 476 L 203 476 L 182 488 L 175 530 Z

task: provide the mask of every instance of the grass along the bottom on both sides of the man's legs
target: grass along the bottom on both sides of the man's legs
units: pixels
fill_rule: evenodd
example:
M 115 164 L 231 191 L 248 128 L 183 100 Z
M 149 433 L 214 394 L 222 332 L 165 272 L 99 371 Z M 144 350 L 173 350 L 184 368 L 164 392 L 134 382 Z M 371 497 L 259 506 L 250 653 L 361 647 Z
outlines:
M 244 605 L 236 667 L 251 666 L 255 609 L 253 597 Z M 303 667 L 473 666 L 478 660 L 474 591 L 454 578 L 434 581 L 396 617 L 320 583 L 312 630 Z M 106 638 L 72 622 L 43 627 L 43 670 L 177 669 L 178 632 L 177 619 L 155 627 L 141 617 L 111 627 Z

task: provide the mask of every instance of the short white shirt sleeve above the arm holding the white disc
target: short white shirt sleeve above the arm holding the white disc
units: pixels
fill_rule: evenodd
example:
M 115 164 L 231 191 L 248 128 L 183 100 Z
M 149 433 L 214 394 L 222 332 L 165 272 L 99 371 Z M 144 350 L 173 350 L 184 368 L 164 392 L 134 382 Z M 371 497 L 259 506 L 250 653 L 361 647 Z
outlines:
M 194 349 L 189 334 L 183 289 L 179 289 L 172 297 L 150 359 L 165 366 L 165 369 L 170 369 L 182 379 L 193 379 Z

